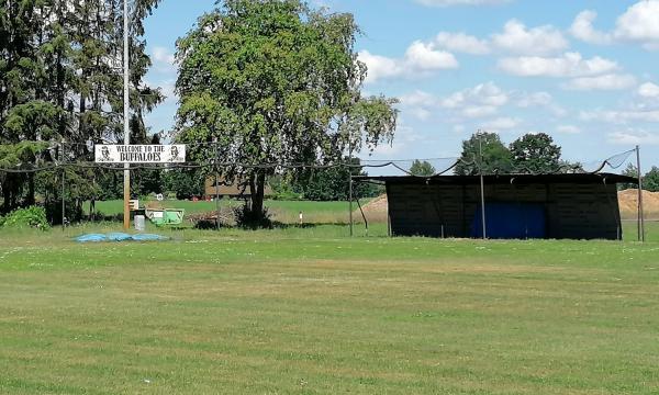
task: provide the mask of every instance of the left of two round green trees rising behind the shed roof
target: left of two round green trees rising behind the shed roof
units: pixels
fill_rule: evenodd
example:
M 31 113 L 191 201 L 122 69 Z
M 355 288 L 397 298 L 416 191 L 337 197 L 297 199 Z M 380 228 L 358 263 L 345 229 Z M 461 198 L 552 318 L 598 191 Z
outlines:
M 482 155 L 481 155 L 482 153 Z M 461 161 L 456 167 L 458 176 L 510 173 L 513 156 L 496 133 L 478 132 L 462 142 Z

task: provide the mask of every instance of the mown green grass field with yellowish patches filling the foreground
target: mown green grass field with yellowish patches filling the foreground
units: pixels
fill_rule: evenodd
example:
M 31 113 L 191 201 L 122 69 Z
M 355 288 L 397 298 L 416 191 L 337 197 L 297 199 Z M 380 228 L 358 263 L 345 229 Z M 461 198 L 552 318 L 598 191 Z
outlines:
M 659 242 L 89 230 L 0 234 L 1 394 L 659 392 Z

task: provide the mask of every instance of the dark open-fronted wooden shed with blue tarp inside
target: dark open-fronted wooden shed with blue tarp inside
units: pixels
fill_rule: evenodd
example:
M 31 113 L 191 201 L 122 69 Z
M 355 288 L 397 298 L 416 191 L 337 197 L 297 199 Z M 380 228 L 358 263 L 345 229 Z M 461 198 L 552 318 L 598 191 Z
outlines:
M 479 176 L 360 177 L 387 187 L 393 236 L 482 237 Z M 625 176 L 483 177 L 489 238 L 622 239 L 617 183 Z

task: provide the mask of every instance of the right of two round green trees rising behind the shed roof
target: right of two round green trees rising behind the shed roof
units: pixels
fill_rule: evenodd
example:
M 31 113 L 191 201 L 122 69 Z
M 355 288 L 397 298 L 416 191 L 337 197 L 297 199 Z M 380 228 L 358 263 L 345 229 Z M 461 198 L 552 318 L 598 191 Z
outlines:
M 528 133 L 510 146 L 513 167 L 518 173 L 552 173 L 560 171 L 560 147 L 545 133 Z

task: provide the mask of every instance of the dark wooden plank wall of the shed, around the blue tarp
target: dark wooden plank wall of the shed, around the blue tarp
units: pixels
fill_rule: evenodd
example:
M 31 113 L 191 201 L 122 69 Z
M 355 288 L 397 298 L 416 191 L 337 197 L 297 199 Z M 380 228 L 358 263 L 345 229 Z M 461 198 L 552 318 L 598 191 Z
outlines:
M 394 236 L 469 237 L 479 185 L 388 184 Z M 622 237 L 615 185 L 489 184 L 485 202 L 541 203 L 549 238 Z

